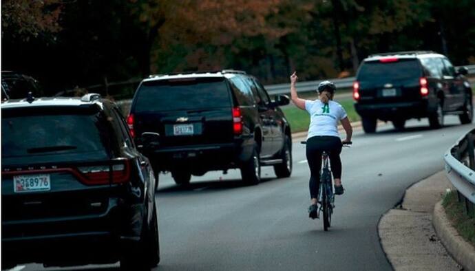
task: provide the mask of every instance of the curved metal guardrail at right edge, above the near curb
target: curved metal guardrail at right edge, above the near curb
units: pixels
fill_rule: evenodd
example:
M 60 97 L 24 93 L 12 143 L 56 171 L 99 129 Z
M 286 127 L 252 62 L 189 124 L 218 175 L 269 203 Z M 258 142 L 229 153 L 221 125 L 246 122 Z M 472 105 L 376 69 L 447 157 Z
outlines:
M 459 201 L 465 200 L 467 213 L 472 216 L 475 204 L 474 139 L 475 129 L 472 129 L 444 155 L 447 177 L 457 189 Z

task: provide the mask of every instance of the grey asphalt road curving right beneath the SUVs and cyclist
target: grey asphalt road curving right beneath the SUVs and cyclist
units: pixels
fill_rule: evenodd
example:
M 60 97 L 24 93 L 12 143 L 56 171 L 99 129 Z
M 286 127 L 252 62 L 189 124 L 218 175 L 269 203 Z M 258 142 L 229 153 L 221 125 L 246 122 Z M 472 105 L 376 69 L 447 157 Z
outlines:
M 272 168 L 264 168 L 258 186 L 242 186 L 238 171 L 192 177 L 188 188 L 162 175 L 157 270 L 391 270 L 377 233 L 381 215 L 408 186 L 443 169 L 443 153 L 474 127 L 453 116 L 445 122 L 437 130 L 427 120 L 413 120 L 403 132 L 391 124 L 374 135 L 356 131 L 352 147 L 341 154 L 346 191 L 335 201 L 328 232 L 321 220 L 308 218 L 309 171 L 298 142 L 292 176 L 276 179 Z

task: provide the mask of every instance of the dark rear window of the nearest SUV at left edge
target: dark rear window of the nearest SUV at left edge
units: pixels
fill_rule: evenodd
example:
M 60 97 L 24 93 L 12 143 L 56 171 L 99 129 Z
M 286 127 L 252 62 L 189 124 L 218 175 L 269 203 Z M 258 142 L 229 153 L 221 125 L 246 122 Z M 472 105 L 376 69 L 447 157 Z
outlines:
M 1 157 L 100 152 L 107 158 L 108 126 L 102 119 L 98 114 L 3 116 Z

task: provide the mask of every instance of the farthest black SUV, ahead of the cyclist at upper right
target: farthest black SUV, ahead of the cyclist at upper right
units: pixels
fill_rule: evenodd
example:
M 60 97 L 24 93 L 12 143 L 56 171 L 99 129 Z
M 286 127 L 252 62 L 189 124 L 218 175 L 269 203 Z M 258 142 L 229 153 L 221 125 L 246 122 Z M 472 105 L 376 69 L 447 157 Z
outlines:
M 410 118 L 429 118 L 430 127 L 443 126 L 443 116 L 458 115 L 463 124 L 473 116 L 472 89 L 447 57 L 427 51 L 374 54 L 358 69 L 353 84 L 355 109 L 366 133 L 377 120 L 403 129 Z

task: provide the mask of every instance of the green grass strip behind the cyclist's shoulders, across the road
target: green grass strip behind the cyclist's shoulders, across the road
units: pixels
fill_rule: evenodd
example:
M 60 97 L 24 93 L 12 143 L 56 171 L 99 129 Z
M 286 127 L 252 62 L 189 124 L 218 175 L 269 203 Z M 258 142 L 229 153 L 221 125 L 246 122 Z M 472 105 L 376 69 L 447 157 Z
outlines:
M 339 102 L 341 106 L 344 107 L 350 122 L 360 120 L 358 113 L 355 111 L 355 106 L 353 106 L 352 98 L 343 98 L 341 100 L 335 101 Z M 291 123 L 291 129 L 293 133 L 307 131 L 308 124 L 310 123 L 310 115 L 308 115 L 307 111 L 298 109 L 297 107 L 282 108 L 282 111 L 284 111 L 288 122 Z

